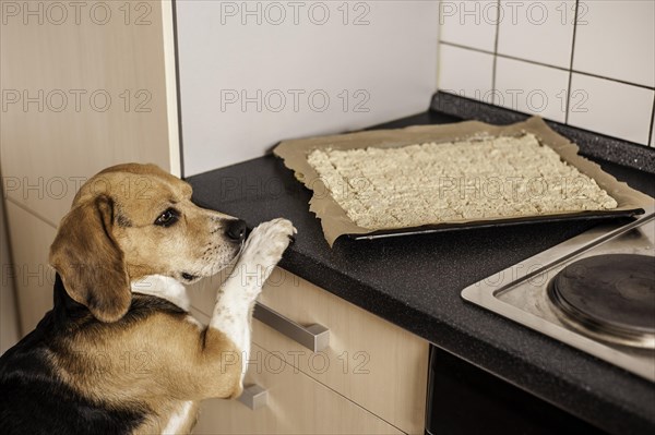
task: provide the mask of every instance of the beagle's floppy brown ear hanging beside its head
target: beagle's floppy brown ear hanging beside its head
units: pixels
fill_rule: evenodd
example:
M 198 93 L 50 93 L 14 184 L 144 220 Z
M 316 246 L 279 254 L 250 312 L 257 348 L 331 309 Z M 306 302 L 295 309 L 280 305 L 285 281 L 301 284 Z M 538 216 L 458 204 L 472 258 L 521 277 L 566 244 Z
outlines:
M 50 265 L 69 295 L 102 322 L 120 319 L 132 301 L 123 253 L 111 234 L 114 202 L 105 195 L 73 208 L 59 225 Z

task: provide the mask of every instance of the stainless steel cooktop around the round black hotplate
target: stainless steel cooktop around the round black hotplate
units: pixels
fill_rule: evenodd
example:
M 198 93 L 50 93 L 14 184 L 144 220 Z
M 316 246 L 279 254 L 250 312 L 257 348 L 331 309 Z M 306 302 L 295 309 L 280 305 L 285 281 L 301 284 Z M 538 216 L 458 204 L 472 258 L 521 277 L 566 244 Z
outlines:
M 622 281 L 632 281 L 631 289 L 640 292 L 642 299 L 641 302 L 636 301 L 635 306 L 641 310 L 642 319 L 644 306 L 648 306 L 645 313 L 648 325 L 645 330 L 638 330 L 636 339 L 635 336 L 626 338 L 621 334 L 614 335 L 611 327 L 609 329 L 595 327 L 594 322 L 585 322 L 584 318 L 571 315 L 572 313 L 565 306 L 562 310 L 562 306 L 553 303 L 558 299 L 553 298 L 551 291 L 553 282 L 557 281 L 553 280 L 555 277 L 570 274 L 570 270 L 574 274 L 575 270 L 585 270 L 587 275 L 595 276 L 595 271 L 592 274 L 592 269 L 585 268 L 585 263 L 588 263 L 591 257 L 607 254 L 636 254 L 641 256 L 641 261 L 646 261 L 645 264 L 652 261 L 651 264 L 655 266 L 655 208 L 647 209 L 644 215 L 627 225 L 595 227 L 467 287 L 463 290 L 462 298 L 655 382 L 655 337 L 650 325 L 650 318 L 655 325 L 655 311 L 650 313 L 652 302 L 655 302 L 651 300 L 651 298 L 655 299 L 652 277 L 655 267 L 648 270 L 640 266 L 639 279 L 631 273 L 632 275 Z M 564 268 L 567 271 L 562 271 Z M 614 266 L 608 267 L 608 269 L 612 268 Z M 622 283 L 618 287 L 619 298 L 631 299 L 630 294 L 621 289 Z M 596 291 L 605 291 L 596 285 L 592 288 Z M 587 302 L 588 299 L 581 298 L 583 307 Z M 609 301 L 607 313 L 611 313 L 612 310 L 621 312 L 626 310 L 621 304 L 615 304 L 616 302 Z

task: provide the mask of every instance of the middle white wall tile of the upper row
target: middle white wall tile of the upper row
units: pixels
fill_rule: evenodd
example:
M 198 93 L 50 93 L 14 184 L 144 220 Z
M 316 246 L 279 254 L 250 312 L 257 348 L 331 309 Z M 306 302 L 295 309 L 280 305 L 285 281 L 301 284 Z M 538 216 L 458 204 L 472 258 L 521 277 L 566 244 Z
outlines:
M 501 1 L 498 52 L 569 68 L 575 0 Z

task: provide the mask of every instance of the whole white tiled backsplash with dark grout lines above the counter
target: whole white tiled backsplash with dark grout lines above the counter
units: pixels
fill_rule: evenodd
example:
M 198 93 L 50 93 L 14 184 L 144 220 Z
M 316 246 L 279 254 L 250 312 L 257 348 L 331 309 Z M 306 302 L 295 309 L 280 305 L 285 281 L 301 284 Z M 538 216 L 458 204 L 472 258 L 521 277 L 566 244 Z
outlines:
M 442 92 L 655 146 L 655 1 L 444 1 Z

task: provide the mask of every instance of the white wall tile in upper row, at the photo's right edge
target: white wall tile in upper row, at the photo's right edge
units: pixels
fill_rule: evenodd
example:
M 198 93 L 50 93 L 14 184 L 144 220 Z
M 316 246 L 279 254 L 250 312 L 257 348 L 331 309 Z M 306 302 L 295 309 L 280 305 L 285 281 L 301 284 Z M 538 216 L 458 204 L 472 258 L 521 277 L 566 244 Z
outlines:
M 655 2 L 580 2 L 573 70 L 655 86 Z

